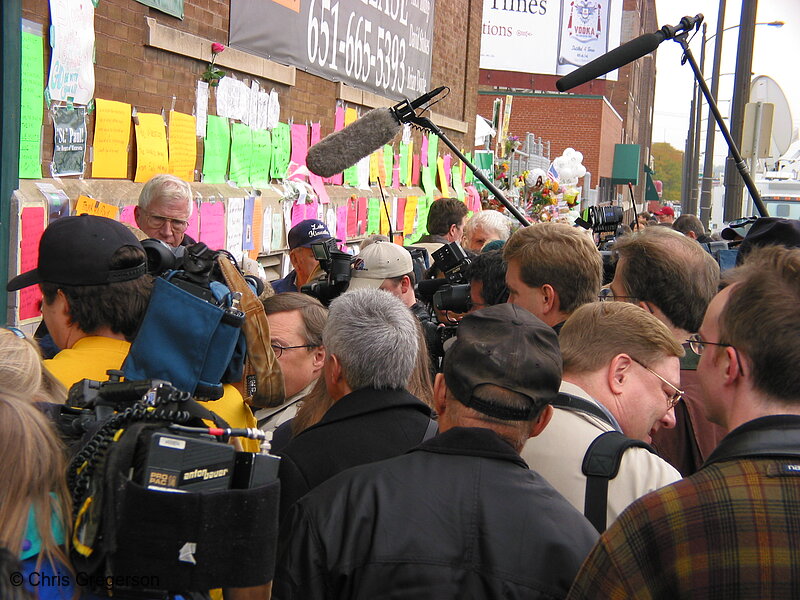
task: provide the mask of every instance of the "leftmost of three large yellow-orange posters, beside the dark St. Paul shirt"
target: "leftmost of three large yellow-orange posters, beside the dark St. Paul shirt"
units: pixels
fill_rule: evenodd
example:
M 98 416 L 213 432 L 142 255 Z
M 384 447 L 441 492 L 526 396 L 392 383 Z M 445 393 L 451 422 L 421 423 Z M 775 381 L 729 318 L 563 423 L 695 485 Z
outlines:
M 125 179 L 131 137 L 131 105 L 95 99 L 92 177 Z

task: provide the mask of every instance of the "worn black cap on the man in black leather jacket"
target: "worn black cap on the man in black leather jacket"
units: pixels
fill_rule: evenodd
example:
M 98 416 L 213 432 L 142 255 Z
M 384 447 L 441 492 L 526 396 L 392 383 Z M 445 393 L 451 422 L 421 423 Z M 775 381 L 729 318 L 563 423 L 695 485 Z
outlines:
M 461 320 L 455 341 L 445 351 L 442 372 L 461 404 L 496 419 L 529 420 L 558 395 L 558 336 L 523 308 L 489 306 Z M 487 384 L 527 398 L 530 407 L 512 408 L 481 398 L 480 387 Z

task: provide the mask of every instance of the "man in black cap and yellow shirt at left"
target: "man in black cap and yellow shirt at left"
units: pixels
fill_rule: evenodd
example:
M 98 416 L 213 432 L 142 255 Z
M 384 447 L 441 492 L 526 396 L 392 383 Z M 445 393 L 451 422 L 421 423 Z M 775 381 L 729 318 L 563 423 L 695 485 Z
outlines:
M 13 278 L 6 289 L 40 286 L 42 318 L 61 348 L 44 365 L 69 390 L 82 379 L 106 381 L 107 371 L 122 368 L 152 282 L 144 249 L 125 225 L 80 215 L 48 226 L 39 242 L 37 268 Z M 222 398 L 204 404 L 231 427 L 255 426 L 255 417 L 230 384 L 223 386 Z

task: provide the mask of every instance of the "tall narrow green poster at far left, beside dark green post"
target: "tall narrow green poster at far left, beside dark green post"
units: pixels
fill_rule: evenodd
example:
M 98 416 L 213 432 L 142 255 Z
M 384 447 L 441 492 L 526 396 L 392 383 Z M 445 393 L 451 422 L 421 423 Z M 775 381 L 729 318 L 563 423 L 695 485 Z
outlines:
M 21 45 L 19 177 L 39 179 L 42 176 L 44 43 L 41 36 L 23 31 Z

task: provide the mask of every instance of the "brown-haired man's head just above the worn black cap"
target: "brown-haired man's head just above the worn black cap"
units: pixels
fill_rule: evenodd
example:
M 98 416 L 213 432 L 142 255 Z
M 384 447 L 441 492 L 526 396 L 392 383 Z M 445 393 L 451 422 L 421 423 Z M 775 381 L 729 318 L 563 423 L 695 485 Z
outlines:
M 603 261 L 592 238 L 564 223 L 534 223 L 506 242 L 508 301 L 558 333 L 572 312 L 597 300 Z

